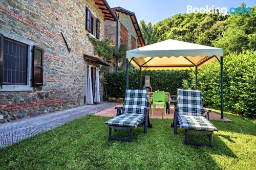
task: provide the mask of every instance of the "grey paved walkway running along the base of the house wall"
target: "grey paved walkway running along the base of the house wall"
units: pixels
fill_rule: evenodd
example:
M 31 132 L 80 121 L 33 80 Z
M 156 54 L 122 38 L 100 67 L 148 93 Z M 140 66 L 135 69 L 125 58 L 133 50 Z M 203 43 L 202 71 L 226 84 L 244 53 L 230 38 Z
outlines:
M 101 102 L 97 105 L 81 106 L 2 124 L 0 125 L 0 148 L 37 133 L 57 128 L 84 115 L 94 114 L 115 105 L 117 103 Z

